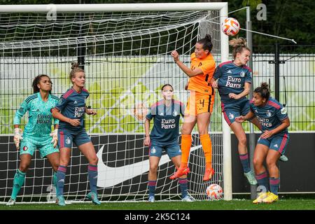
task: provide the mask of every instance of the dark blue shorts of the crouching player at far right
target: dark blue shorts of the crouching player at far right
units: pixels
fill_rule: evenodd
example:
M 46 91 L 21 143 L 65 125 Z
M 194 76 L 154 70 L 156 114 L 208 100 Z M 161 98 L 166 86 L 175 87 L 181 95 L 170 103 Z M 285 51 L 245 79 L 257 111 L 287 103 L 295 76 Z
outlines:
M 279 151 L 281 155 L 284 155 L 284 153 L 286 153 L 286 146 L 288 146 L 289 139 L 290 137 L 288 133 L 280 133 L 275 134 L 268 139 L 259 138 L 257 144 L 268 146 L 269 149 Z

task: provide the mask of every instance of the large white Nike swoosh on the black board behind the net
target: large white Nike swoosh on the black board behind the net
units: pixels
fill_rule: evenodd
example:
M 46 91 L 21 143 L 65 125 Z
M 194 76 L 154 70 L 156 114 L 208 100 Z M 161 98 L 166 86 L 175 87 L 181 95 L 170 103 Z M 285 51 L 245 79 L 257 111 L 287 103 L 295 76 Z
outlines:
M 202 146 L 194 146 L 190 148 L 190 152 L 202 148 Z M 136 162 L 132 165 L 125 165 L 123 167 L 108 167 L 104 164 L 103 155 L 104 146 L 97 152 L 99 162 L 97 163 L 97 172 L 99 178 L 97 179 L 97 186 L 100 188 L 109 188 L 116 186 L 118 183 L 123 183 L 136 176 L 144 174 L 149 171 L 149 160 Z M 169 162 L 169 156 L 167 154 L 162 155 L 159 166 Z

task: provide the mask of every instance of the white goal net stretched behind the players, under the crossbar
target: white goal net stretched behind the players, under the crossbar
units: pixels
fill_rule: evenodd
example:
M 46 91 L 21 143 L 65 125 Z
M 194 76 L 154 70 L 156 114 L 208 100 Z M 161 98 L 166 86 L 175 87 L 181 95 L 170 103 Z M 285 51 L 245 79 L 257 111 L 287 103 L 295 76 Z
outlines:
M 20 165 L 12 134 L 15 111 L 33 93 L 31 82 L 38 74 L 50 76 L 52 94 L 60 97 L 66 92 L 71 87 L 71 62 L 84 66 L 85 88 L 90 92 L 87 105 L 97 111 L 97 116 L 85 116 L 85 129 L 99 158 L 97 186 L 100 200 L 147 200 L 146 113 L 151 104 L 161 99 L 160 88 L 165 83 L 173 85 L 176 100 L 186 104 L 189 94 L 184 90 L 188 78 L 174 64 L 170 53 L 177 50 L 181 60 L 190 66 L 190 54 L 196 41 L 211 34 L 212 54 L 216 64 L 220 63 L 223 55 L 221 18 L 220 10 L 2 11 L 0 201 L 8 201 L 13 177 Z M 188 192 L 197 200 L 207 199 L 205 190 L 211 183 L 223 186 L 223 130 L 219 105 L 217 94 L 209 128 L 216 174 L 208 182 L 202 181 L 204 153 L 197 129 L 193 131 Z M 25 114 L 21 120 L 22 129 L 27 119 Z M 172 161 L 163 154 L 158 169 L 156 200 L 180 199 L 178 181 L 169 179 L 174 172 Z M 87 160 L 73 145 L 64 196 L 66 200 L 83 201 L 89 189 Z M 52 168 L 36 151 L 17 202 L 54 200 Z

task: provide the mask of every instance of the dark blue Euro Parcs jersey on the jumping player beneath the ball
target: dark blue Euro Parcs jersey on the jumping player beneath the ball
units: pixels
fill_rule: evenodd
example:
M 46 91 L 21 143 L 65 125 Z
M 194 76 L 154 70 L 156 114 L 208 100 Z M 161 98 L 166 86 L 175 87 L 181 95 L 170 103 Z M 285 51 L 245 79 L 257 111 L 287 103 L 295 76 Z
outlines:
M 245 83 L 251 83 L 251 69 L 237 66 L 232 61 L 223 62 L 216 67 L 214 78 L 218 79 L 218 92 L 222 97 L 229 93 L 239 94 L 244 91 Z

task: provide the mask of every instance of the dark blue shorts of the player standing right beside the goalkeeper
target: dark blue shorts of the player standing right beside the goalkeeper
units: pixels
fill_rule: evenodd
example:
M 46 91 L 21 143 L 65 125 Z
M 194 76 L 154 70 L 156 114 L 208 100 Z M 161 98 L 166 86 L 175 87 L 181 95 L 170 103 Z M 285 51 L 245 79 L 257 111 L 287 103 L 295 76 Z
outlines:
M 80 146 L 90 141 L 91 139 L 87 135 L 85 129 L 76 132 L 58 129 L 59 148 L 71 148 L 72 142 L 74 142 L 76 146 Z

